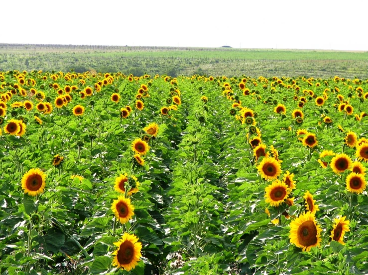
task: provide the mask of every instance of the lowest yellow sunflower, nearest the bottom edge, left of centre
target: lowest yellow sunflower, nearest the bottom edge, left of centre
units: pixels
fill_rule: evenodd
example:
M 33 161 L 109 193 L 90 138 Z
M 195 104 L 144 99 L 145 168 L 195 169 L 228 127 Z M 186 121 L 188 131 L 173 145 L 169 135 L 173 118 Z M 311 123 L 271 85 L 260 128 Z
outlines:
M 135 235 L 124 233 L 123 238 L 114 243 L 118 246 L 118 249 L 113 252 L 115 258 L 113 260 L 113 266 L 118 266 L 126 271 L 134 269 L 140 261 L 140 250 L 142 244 L 138 242 L 138 238 Z

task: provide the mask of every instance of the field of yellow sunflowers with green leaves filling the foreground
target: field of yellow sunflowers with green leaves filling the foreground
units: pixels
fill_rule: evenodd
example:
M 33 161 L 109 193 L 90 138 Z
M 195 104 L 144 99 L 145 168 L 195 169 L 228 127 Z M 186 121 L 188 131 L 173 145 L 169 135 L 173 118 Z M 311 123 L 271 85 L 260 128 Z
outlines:
M 0 274 L 367 274 L 367 167 L 367 79 L 0 71 Z

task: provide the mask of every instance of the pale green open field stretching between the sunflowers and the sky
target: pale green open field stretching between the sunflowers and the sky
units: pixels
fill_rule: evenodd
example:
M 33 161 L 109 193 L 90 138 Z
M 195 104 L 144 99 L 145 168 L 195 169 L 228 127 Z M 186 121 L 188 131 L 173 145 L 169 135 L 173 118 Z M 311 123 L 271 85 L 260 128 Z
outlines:
M 353 78 L 368 76 L 368 52 L 0 44 L 0 69 Z

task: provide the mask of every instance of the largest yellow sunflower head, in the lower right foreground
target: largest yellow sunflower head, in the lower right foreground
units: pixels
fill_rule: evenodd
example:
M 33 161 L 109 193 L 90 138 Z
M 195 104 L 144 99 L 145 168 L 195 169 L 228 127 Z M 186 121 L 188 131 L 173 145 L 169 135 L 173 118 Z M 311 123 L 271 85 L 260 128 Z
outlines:
M 308 211 L 290 223 L 290 243 L 303 251 L 310 251 L 312 247 L 320 246 L 321 231 L 314 214 Z

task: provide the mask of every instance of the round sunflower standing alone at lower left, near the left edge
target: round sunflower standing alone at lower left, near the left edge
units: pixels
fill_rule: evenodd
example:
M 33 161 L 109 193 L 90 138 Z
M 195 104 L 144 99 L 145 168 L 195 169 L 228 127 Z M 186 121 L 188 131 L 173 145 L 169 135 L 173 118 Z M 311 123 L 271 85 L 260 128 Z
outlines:
M 46 175 L 38 168 L 32 168 L 22 177 L 22 189 L 29 196 L 37 196 L 43 192 L 46 186 Z

